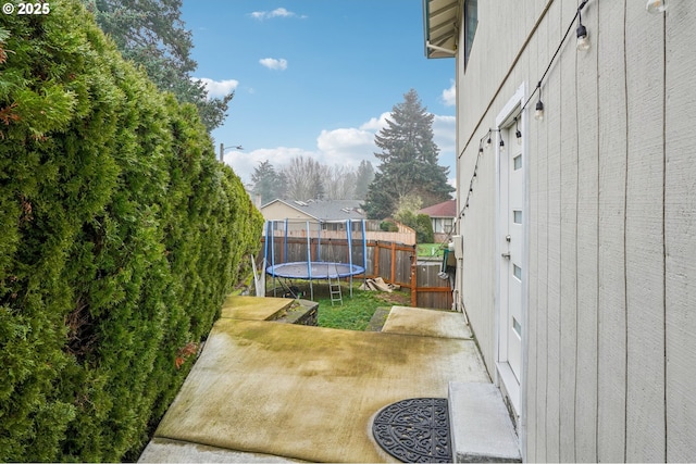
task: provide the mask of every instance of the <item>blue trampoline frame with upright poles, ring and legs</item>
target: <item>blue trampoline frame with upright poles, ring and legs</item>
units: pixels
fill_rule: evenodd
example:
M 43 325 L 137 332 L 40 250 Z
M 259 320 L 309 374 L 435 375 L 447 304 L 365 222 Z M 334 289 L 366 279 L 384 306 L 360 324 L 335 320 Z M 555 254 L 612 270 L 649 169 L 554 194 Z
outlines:
M 310 227 L 310 221 L 306 221 L 306 231 L 307 231 L 307 261 L 291 261 L 291 262 L 285 262 L 285 263 L 276 263 L 275 262 L 275 225 L 276 223 L 284 223 L 285 227 L 284 227 L 284 254 L 283 256 L 287 258 L 287 237 L 288 237 L 288 224 L 290 223 L 287 218 L 284 221 L 266 221 L 265 222 L 265 246 L 263 249 L 263 254 L 264 254 L 264 262 L 266 263 L 266 267 L 265 267 L 265 273 L 269 274 L 270 276 L 273 277 L 273 296 L 275 296 L 275 289 L 276 289 L 276 285 L 275 285 L 275 278 L 286 278 L 286 279 L 300 279 L 300 280 L 309 280 L 309 287 L 310 287 L 310 298 L 311 300 L 314 300 L 314 286 L 313 286 L 313 280 L 331 280 L 332 278 L 340 278 L 340 277 L 348 277 L 350 279 L 350 297 L 352 298 L 352 278 L 356 275 L 365 275 L 365 269 L 368 268 L 368 241 L 366 241 L 366 234 L 365 234 L 365 220 L 359 220 L 359 224 L 361 225 L 361 233 L 362 233 L 362 266 L 359 266 L 357 264 L 353 264 L 353 249 L 352 249 L 352 225 L 358 223 L 358 221 L 353 221 L 353 220 L 345 220 L 345 221 L 320 221 L 320 222 L 312 222 L 311 224 L 316 224 L 316 234 L 314 235 L 314 237 L 318 239 L 318 250 L 316 250 L 316 254 L 319 255 L 319 258 L 321 259 L 321 234 L 322 234 L 322 226 L 324 224 L 344 224 L 345 225 L 345 230 L 346 230 L 346 240 L 347 240 L 347 246 L 348 246 L 348 263 L 341 263 L 338 261 L 313 261 L 312 260 L 312 247 L 311 247 L 311 239 L 312 239 L 312 229 Z M 297 223 L 297 222 L 294 222 Z M 331 238 L 328 239 L 330 241 L 330 246 L 331 246 Z M 333 249 L 332 249 L 333 251 Z M 270 256 L 270 259 L 269 259 Z M 335 256 L 332 256 L 335 258 Z M 279 274 L 278 271 L 283 269 L 283 267 L 287 267 L 289 268 L 290 265 L 303 265 L 304 268 L 307 269 L 307 273 L 303 274 L 299 274 L 298 275 L 291 275 L 291 274 Z M 324 273 L 324 274 L 320 274 L 320 275 L 312 275 L 312 265 L 334 265 L 336 268 L 336 273 Z M 349 272 L 347 273 L 338 273 L 338 266 L 348 266 Z

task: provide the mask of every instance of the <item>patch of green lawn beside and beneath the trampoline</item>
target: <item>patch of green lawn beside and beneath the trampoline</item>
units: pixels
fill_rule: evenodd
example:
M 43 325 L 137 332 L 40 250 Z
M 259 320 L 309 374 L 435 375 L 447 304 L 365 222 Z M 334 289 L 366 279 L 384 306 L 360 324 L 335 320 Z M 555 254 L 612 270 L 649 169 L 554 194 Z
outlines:
M 320 327 L 341 328 L 347 330 L 364 330 L 378 306 L 401 305 L 410 303 L 411 296 L 408 291 L 394 291 L 391 293 L 359 290 L 360 284 L 356 284 L 350 298 L 350 288 L 341 285 L 344 303 L 331 304 L 328 286 L 314 284 L 314 301 L 319 303 L 318 325 Z M 309 299 L 309 294 L 304 298 Z

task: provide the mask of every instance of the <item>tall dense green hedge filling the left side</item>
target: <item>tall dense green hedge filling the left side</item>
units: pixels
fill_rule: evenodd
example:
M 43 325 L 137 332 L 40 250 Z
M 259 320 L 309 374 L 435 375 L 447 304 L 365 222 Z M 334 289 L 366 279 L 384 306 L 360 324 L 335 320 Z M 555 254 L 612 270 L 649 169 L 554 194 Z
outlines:
M 0 15 L 0 461 L 137 459 L 262 220 L 196 109 L 50 8 Z

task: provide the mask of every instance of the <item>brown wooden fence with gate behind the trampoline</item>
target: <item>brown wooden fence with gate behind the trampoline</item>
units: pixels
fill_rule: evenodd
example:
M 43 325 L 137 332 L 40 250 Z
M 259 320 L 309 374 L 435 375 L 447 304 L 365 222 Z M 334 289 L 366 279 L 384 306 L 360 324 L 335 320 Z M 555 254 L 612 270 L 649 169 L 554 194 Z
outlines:
M 262 252 L 265 238 L 261 239 Z M 275 263 L 327 261 L 349 263 L 348 240 L 316 238 L 309 239 L 310 255 L 307 253 L 307 238 L 277 238 L 273 243 Z M 411 305 L 419 308 L 450 309 L 452 293 L 449 280 L 439 278 L 438 262 L 419 262 L 415 244 L 403 244 L 378 240 L 352 241 L 352 264 L 365 267 L 364 278 L 382 277 L 384 281 L 408 288 Z M 366 251 L 366 253 L 365 253 Z M 269 264 L 271 263 L 271 251 Z M 363 260 L 363 255 L 365 256 Z

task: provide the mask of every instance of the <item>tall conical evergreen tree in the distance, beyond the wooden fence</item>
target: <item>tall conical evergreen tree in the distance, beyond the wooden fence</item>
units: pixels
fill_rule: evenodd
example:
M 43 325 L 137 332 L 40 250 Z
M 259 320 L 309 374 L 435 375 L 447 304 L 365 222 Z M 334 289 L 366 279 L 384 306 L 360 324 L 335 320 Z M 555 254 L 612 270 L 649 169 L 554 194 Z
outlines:
M 403 96 L 375 136 L 382 163 L 370 184 L 364 210 L 371 218 L 394 214 L 406 196 L 418 196 L 424 205 L 449 200 L 455 190 L 447 183 L 449 168 L 437 164 L 439 148 L 433 141 L 433 114 L 421 104 L 414 89 Z

